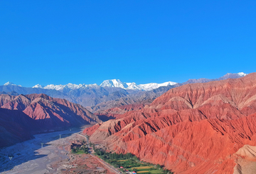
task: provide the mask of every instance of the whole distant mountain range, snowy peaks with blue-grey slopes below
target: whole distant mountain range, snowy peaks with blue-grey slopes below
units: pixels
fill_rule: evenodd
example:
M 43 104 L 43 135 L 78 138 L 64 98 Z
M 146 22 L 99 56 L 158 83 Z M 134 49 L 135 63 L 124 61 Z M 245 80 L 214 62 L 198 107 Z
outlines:
M 4 86 L 0 86 L 0 92 L 12 95 L 44 93 L 53 98 L 64 98 L 73 103 L 78 103 L 90 110 L 106 110 L 121 105 L 129 105 L 133 103 L 151 103 L 155 98 L 159 97 L 166 91 L 177 86 L 187 83 L 203 83 L 208 81 L 219 81 L 223 79 L 236 79 L 246 76 L 245 73 L 225 74 L 219 79 L 189 79 L 184 83 L 176 83 L 168 81 L 165 83 L 124 83 L 119 79 L 103 81 L 100 86 L 95 84 L 73 84 L 41 86 L 40 84 L 32 88 L 22 87 L 11 82 L 7 82 Z

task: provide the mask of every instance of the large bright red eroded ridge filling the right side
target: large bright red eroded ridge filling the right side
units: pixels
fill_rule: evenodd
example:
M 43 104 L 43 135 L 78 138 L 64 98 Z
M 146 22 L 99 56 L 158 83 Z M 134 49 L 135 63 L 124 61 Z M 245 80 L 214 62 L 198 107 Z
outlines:
M 120 117 L 90 140 L 176 173 L 234 173 L 241 152 L 234 153 L 256 146 L 256 73 L 172 88 Z

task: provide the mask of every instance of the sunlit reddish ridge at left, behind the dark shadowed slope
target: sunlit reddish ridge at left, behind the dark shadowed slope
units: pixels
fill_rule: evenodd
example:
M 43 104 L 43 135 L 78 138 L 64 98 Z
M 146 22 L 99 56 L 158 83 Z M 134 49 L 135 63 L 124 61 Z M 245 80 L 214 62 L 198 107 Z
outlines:
M 46 94 L 0 95 L 0 106 L 20 110 L 37 122 L 42 129 L 56 129 L 80 124 L 95 124 L 101 120 L 81 105 Z

